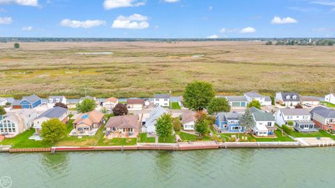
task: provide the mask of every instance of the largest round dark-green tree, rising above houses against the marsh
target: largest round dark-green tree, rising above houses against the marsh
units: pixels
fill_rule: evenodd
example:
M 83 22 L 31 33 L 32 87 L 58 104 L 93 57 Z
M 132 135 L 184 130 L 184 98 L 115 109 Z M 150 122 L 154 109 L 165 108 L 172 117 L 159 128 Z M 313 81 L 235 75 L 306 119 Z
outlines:
M 215 96 L 213 86 L 205 81 L 193 81 L 187 84 L 183 104 L 194 111 L 206 109 Z

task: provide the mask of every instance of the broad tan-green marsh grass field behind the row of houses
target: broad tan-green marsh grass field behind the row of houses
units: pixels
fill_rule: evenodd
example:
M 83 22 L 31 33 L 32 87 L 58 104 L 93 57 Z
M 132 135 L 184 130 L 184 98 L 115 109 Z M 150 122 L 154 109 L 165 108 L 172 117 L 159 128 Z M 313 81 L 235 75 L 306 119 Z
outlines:
M 255 90 L 322 96 L 335 88 L 335 47 L 225 41 L 21 42 L 20 46 L 13 49 L 11 42 L 0 43 L 2 96 L 79 97 L 85 88 L 96 97 L 150 97 L 171 89 L 180 95 L 194 80 L 213 83 L 222 95 Z

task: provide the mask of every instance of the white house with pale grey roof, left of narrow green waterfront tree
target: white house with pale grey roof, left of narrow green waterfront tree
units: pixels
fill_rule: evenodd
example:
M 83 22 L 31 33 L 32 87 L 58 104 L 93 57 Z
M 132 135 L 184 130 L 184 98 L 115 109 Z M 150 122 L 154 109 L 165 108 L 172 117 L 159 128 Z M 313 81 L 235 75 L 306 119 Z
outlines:
M 156 134 L 156 121 L 160 118 L 164 113 L 168 113 L 163 107 L 155 107 L 149 113 L 149 117 L 144 122 L 144 127 L 142 128 L 142 132 L 147 132 L 148 134 Z

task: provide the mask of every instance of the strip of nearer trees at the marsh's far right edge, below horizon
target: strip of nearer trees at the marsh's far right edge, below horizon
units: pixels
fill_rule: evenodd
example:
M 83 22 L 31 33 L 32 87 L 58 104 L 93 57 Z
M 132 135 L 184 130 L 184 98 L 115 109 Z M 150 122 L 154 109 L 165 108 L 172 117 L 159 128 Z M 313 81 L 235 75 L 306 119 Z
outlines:
M 266 45 L 316 45 L 316 46 L 334 46 L 334 38 L 291 38 L 281 40 L 269 40 Z

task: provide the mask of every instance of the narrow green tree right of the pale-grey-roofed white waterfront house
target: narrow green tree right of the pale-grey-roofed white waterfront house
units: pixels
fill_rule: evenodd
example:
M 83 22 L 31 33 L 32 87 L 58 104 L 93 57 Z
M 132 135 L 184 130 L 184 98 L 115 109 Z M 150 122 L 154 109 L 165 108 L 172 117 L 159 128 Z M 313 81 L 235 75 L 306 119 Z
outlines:
M 156 122 L 156 132 L 165 141 L 172 134 L 172 117 L 169 113 L 164 113 Z

